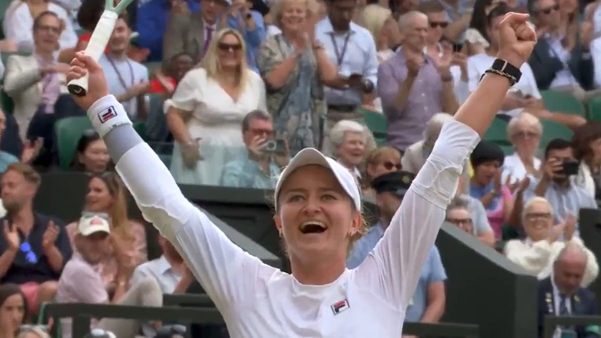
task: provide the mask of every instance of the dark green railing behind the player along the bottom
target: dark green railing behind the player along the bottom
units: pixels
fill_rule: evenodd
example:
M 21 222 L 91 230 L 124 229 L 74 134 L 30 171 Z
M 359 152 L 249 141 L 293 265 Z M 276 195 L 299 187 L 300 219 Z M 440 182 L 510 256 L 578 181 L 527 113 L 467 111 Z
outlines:
M 115 304 L 58 304 L 46 306 L 46 313 L 55 319 L 73 318 L 73 337 L 83 337 L 90 331 L 93 318 L 122 318 L 139 321 L 178 322 L 187 324 L 224 324 L 221 313 L 207 295 L 163 295 L 165 306 L 124 306 Z M 419 337 L 478 338 L 478 325 L 405 323 L 403 334 Z

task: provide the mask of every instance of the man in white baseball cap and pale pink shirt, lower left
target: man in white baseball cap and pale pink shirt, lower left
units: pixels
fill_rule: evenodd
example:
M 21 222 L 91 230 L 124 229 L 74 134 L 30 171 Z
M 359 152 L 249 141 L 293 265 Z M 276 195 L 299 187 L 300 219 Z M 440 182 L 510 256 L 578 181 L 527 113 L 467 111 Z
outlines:
M 129 286 L 135 265 L 126 255 L 117 259 L 117 289 L 109 299 L 105 283 L 100 276 L 98 263 L 105 258 L 110 245 L 111 226 L 106 214 L 85 213 L 79 219 L 75 232 L 77 251 L 63 269 L 58 281 L 56 303 L 112 303 L 136 306 L 162 306 L 163 294 L 151 277 L 142 278 Z M 63 338 L 72 336 L 71 319 L 61 319 Z M 111 331 L 117 337 L 135 337 L 140 323 L 127 319 L 105 318 L 94 328 Z

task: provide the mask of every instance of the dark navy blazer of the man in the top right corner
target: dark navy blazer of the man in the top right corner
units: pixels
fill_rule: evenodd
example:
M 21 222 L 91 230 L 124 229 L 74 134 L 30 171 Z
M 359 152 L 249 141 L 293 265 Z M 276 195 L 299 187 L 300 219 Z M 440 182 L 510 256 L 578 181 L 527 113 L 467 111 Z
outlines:
M 532 69 L 532 73 L 534 73 L 539 90 L 548 90 L 557 72 L 564 67 L 561 60 L 552 54 L 547 38 L 538 40 L 528 64 Z M 583 52 L 581 45 L 576 45 L 572 55 L 570 55 L 568 66 L 582 88 L 585 90 L 593 89 L 593 58 L 590 52 Z

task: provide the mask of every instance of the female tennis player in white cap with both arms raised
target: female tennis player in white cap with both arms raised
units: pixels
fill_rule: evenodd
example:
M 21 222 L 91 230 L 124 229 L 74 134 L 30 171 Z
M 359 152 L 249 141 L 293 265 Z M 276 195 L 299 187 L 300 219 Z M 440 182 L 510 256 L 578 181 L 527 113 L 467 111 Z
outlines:
M 69 77 L 89 73 L 87 95 L 75 100 L 88 110 L 144 217 L 185 258 L 231 337 L 398 338 L 463 162 L 532 52 L 536 35 L 527 19 L 527 14 L 505 16 L 498 55 L 505 61 L 495 63 L 442 128 L 384 237 L 354 270 L 346 269 L 345 260 L 361 224 L 361 196 L 346 168 L 304 149 L 282 172 L 274 219 L 290 256 L 289 275 L 237 247 L 186 200 L 123 107 L 108 95 L 102 69 L 91 57 L 79 53 Z

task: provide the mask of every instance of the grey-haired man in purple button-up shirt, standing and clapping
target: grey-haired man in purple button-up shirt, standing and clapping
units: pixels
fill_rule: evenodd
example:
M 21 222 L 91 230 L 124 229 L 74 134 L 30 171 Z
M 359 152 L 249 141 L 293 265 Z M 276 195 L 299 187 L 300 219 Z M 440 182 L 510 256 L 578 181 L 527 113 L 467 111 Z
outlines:
M 449 70 L 452 51 L 435 60 L 424 54 L 429 23 L 410 11 L 398 20 L 403 45 L 378 67 L 377 90 L 388 120 L 386 142 L 401 153 L 421 140 L 427 121 L 438 112 L 454 114 L 457 99 Z

